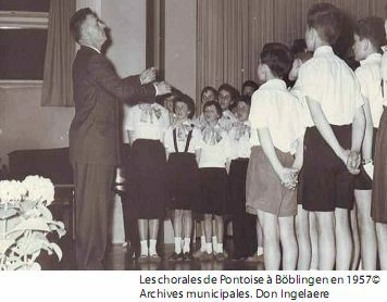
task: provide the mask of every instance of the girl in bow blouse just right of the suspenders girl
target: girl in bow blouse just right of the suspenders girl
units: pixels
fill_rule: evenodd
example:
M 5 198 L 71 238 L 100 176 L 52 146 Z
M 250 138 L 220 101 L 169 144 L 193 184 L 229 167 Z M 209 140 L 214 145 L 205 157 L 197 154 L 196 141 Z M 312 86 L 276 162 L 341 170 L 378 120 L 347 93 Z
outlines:
M 224 260 L 223 215 L 227 201 L 227 171 L 230 146 L 227 133 L 220 126 L 222 109 L 216 101 L 209 101 L 203 108 L 207 125 L 201 128 L 199 143 L 199 173 L 201 184 L 201 204 L 199 211 L 204 214 L 205 251 L 201 260 L 210 260 L 213 253 L 216 260 Z M 227 168 L 227 169 L 226 169 Z M 212 218 L 215 225 L 212 225 Z M 216 235 L 217 242 L 211 243 Z

